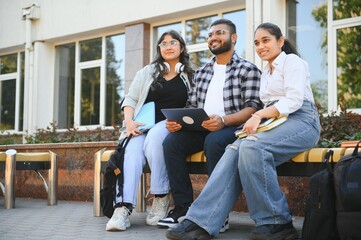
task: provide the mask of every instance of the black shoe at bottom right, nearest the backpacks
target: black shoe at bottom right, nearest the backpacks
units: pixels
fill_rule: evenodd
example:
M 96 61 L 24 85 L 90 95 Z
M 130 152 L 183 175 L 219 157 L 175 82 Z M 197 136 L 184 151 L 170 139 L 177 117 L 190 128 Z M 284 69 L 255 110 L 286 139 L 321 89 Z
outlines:
M 252 240 L 294 240 L 298 232 L 292 222 L 286 224 L 266 224 L 257 226 L 251 232 Z

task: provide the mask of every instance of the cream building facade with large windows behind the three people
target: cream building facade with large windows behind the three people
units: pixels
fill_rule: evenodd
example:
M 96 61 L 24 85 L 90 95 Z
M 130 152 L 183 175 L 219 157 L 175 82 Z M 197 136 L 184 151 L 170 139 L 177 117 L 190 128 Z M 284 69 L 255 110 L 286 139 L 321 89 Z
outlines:
M 193 67 L 212 57 L 218 18 L 237 26 L 238 55 L 262 68 L 258 24 L 273 22 L 309 63 L 316 102 L 361 112 L 361 2 L 347 0 L 0 0 L 0 131 L 110 128 L 119 102 L 168 29 L 187 42 Z

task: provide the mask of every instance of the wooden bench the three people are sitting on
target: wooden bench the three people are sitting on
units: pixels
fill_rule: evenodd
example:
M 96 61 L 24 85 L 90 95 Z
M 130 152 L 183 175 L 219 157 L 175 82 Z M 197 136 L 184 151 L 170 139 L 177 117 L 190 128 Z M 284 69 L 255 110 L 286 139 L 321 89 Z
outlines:
M 334 151 L 333 159 L 337 162 L 345 154 L 352 153 L 352 148 L 313 148 L 302 152 L 290 161 L 277 167 L 278 176 L 309 177 L 322 169 L 322 161 L 329 149 Z M 107 161 L 114 150 L 105 148 L 94 154 L 94 216 L 102 216 L 100 206 L 100 189 L 103 187 Z M 195 153 L 187 158 L 189 172 L 191 174 L 207 174 L 206 157 L 204 152 Z M 150 173 L 149 166 L 143 170 L 138 188 L 136 210 L 146 211 L 146 178 L 144 173 Z

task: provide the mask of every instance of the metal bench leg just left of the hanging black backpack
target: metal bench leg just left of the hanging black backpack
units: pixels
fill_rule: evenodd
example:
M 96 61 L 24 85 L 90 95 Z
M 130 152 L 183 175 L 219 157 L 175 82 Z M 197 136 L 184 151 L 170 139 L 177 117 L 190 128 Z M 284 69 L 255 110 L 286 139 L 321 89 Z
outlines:
M 101 176 L 101 159 L 105 149 L 102 149 L 94 155 L 94 200 L 93 200 L 93 214 L 94 217 L 103 215 L 100 206 L 100 189 L 103 187 L 103 180 Z

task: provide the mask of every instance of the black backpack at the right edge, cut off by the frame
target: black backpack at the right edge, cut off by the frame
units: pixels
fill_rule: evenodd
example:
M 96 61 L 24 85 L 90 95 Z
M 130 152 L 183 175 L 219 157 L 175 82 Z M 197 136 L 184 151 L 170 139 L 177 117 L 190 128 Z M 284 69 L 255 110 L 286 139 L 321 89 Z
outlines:
M 342 157 L 334 169 L 337 228 L 340 238 L 347 240 L 361 239 L 360 143 L 352 154 Z

